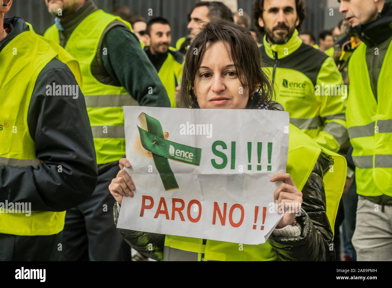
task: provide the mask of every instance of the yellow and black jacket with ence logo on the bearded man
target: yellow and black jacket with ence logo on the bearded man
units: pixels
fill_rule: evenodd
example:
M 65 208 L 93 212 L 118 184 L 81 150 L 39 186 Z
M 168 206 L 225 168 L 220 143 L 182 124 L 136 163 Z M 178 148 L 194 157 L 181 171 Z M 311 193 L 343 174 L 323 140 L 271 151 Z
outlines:
M 338 152 L 348 139 L 347 89 L 334 60 L 303 44 L 295 30 L 285 44 L 260 47 L 263 65 L 276 89 L 276 101 L 290 114 L 290 123 L 319 145 Z

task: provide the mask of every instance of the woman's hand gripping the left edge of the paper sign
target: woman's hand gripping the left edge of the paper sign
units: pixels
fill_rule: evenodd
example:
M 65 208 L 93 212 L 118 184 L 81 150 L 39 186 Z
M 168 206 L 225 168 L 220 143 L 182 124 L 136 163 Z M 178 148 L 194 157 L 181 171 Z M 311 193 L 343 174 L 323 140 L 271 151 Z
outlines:
M 129 163 L 127 158 L 121 158 L 118 166 L 120 166 L 121 170 L 118 171 L 117 177 L 112 179 L 109 185 L 109 191 L 114 199 L 121 204 L 123 196 L 133 196 L 132 190 L 135 189 L 135 184 L 131 177 L 129 177 L 127 171 L 123 170 L 124 166 L 127 168 L 131 167 L 131 163 Z

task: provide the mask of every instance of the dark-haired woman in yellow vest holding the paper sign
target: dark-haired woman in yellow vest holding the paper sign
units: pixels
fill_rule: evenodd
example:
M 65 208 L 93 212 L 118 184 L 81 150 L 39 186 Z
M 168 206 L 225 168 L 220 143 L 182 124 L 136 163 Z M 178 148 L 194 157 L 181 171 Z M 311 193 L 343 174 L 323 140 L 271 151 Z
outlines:
M 185 56 L 178 97 L 181 107 L 283 110 L 271 100 L 273 89 L 260 63 L 259 49 L 247 29 L 225 20 L 205 24 Z M 330 173 L 333 164 L 335 173 Z M 125 158 L 120 160 L 120 168 L 124 166 L 131 167 Z M 344 170 L 341 156 L 319 147 L 290 125 L 287 173 L 275 174 L 270 181 L 282 182 L 274 191 L 274 200 L 294 203 L 301 212 L 287 210 L 266 243 L 244 244 L 239 249 L 238 243 L 126 229 L 120 232 L 134 249 L 156 260 L 333 261 L 331 227 L 343 191 Z M 109 186 L 117 201 L 115 223 L 123 197 L 132 197 L 134 189 L 129 174 L 120 170 Z

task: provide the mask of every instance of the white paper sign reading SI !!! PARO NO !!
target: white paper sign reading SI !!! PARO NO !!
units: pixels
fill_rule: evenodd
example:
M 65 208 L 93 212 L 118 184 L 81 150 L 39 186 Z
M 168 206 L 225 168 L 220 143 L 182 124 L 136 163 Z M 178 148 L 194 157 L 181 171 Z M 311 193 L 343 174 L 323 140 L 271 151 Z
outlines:
M 123 110 L 127 172 L 136 189 L 123 197 L 118 228 L 265 243 L 283 216 L 273 205 L 281 182 L 269 179 L 286 171 L 289 113 Z

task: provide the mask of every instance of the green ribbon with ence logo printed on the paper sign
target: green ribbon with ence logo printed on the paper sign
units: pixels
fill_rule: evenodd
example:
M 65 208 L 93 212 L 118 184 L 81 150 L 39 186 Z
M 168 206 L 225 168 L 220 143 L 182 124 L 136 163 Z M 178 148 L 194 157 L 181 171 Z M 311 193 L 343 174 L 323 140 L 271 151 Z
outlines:
M 140 140 L 144 149 L 152 153 L 165 190 L 179 188 L 168 159 L 199 166 L 201 149 L 165 139 L 161 123 L 145 113 L 139 115 L 138 122 Z

